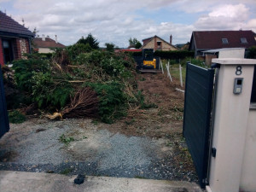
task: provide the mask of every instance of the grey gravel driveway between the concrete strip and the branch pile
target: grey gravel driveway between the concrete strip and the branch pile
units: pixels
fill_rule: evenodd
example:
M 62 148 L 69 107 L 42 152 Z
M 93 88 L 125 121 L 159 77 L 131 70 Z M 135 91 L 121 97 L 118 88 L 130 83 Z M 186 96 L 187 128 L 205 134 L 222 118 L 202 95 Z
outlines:
M 167 139 L 126 137 L 104 126 L 91 119 L 11 124 L 0 139 L 0 170 L 197 182 L 195 172 L 173 165 Z M 61 136 L 74 141 L 61 143 Z

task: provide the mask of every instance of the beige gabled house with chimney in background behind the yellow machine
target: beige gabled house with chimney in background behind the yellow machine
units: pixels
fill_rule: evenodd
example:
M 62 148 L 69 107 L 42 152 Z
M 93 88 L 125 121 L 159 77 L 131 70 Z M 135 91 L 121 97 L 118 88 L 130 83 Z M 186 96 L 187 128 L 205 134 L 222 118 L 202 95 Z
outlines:
M 154 36 L 151 38 L 143 39 L 142 49 L 154 49 L 154 50 L 177 50 L 177 47 L 172 45 L 172 35 L 170 36 L 170 42 L 166 42 L 164 39 Z

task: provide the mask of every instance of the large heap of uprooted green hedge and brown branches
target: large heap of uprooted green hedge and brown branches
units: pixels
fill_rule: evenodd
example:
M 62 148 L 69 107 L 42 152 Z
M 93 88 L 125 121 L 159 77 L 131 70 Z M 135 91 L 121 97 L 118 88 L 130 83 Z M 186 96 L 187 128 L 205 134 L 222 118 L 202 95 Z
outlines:
M 112 123 L 125 115 L 128 106 L 140 102 L 135 94 L 136 64 L 122 53 L 75 44 L 56 49 L 50 59 L 28 55 L 27 60 L 13 64 L 16 88 L 44 113 L 58 112 L 61 117 L 84 114 Z

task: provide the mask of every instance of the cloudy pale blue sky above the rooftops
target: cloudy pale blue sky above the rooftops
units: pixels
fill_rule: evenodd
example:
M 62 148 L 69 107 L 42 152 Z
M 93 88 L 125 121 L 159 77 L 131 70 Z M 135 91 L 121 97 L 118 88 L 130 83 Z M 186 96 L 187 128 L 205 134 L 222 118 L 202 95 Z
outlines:
M 193 31 L 256 32 L 256 0 L 0 0 L 0 10 L 65 45 L 89 33 L 101 47 L 125 48 L 129 38 L 172 34 L 172 44 L 185 44 Z

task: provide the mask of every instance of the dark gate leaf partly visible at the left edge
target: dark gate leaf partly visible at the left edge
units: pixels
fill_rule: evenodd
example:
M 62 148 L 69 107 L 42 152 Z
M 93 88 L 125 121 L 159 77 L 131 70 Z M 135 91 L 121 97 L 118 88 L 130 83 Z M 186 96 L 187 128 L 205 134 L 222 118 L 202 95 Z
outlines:
M 3 74 L 0 66 L 0 138 L 9 131 L 9 119 L 3 90 Z

